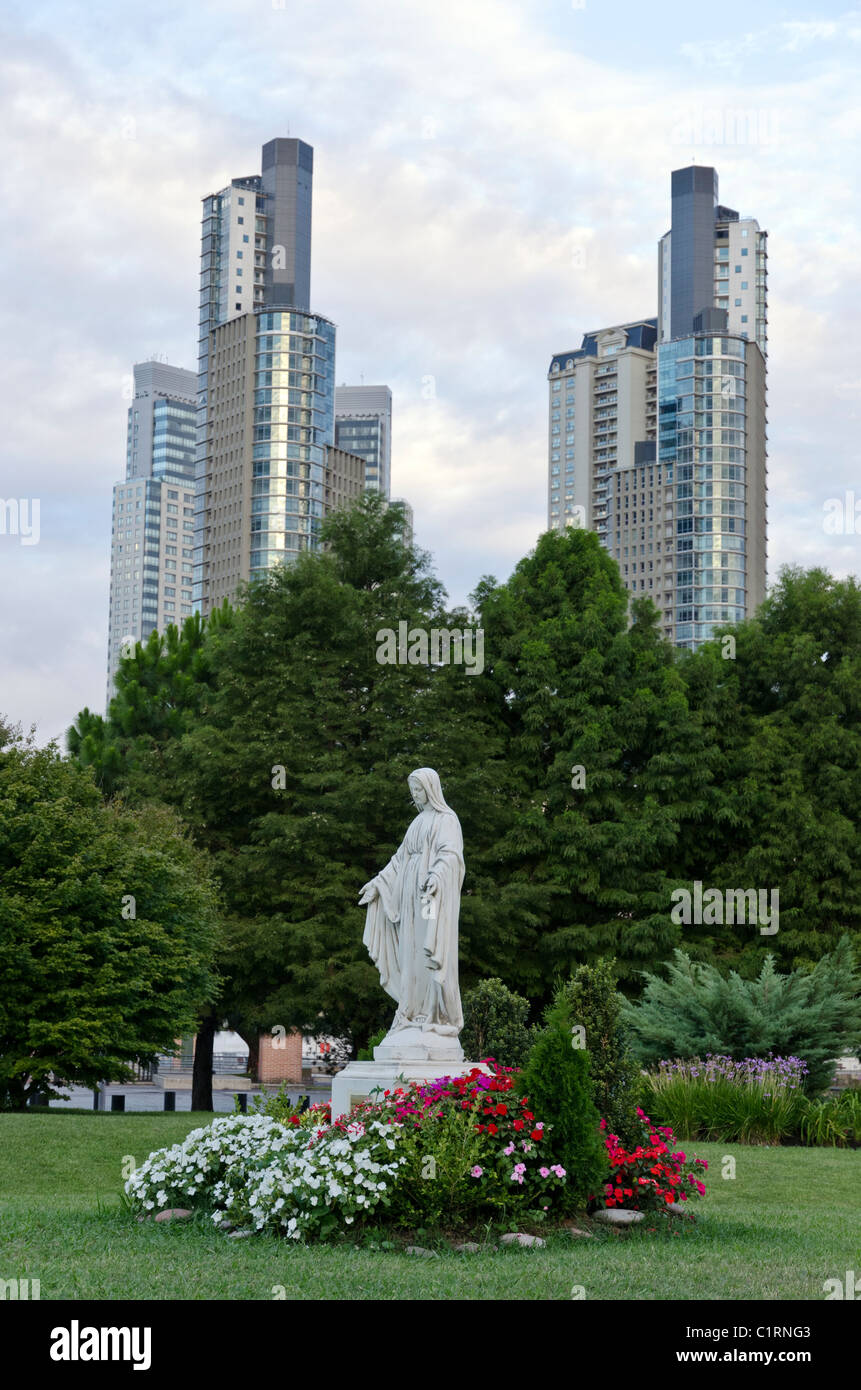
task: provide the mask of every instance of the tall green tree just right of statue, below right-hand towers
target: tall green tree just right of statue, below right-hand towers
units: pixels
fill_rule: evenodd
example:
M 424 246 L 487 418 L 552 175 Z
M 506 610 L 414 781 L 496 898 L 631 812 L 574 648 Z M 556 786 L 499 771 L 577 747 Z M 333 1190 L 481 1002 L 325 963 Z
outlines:
M 506 983 L 547 998 L 554 974 L 611 954 L 636 988 L 680 940 L 672 860 L 712 776 L 702 721 L 651 605 L 636 605 L 629 627 L 618 567 L 594 534 L 541 537 L 477 602 L 516 778 L 498 892 L 530 942 Z

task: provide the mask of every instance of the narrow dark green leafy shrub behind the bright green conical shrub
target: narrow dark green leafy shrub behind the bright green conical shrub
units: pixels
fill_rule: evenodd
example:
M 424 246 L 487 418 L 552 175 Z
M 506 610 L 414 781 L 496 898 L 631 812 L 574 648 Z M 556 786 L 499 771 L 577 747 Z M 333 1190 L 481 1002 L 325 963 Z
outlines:
M 633 1138 L 640 1104 L 640 1068 L 622 1023 L 623 998 L 616 990 L 615 962 L 581 965 L 565 984 L 572 1019 L 584 1030 L 593 1099 L 611 1134 Z

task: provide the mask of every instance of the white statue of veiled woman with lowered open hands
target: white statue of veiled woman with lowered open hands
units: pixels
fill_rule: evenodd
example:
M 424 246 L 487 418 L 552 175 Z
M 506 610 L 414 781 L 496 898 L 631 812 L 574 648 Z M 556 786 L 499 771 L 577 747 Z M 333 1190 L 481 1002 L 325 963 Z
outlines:
M 374 1056 L 463 1061 L 458 1041 L 463 835 L 433 767 L 410 773 L 409 790 L 419 815 L 385 869 L 359 895 L 359 905 L 367 906 L 364 945 L 383 988 L 398 1004 Z

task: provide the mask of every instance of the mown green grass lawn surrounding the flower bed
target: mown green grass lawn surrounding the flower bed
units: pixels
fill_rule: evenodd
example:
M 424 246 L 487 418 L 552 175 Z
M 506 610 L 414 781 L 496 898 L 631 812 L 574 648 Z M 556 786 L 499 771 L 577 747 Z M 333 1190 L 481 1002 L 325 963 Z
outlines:
M 230 1240 L 204 1218 L 139 1223 L 120 1204 L 127 1155 L 206 1125 L 206 1115 L 0 1115 L 0 1277 L 42 1298 L 807 1298 L 861 1269 L 861 1151 L 690 1144 L 707 1158 L 697 1223 L 648 1218 L 547 1250 L 438 1259 L 356 1247 Z M 722 1156 L 736 1177 L 721 1177 Z M 657 1227 L 650 1232 L 648 1227 Z M 421 1240 L 423 1244 L 428 1238 Z

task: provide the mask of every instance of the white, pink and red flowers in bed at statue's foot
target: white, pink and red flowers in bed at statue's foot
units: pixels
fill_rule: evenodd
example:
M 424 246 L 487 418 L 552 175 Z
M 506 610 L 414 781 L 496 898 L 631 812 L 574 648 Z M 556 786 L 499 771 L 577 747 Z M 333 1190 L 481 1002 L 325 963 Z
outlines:
M 271 1111 L 273 1113 L 267 1113 Z M 672 1131 L 638 1112 L 643 1143 L 606 1136 L 606 1207 L 657 1207 L 704 1191 Z M 606 1122 L 602 1122 L 606 1129 Z M 132 1204 L 192 1207 L 221 1227 L 319 1238 L 369 1220 L 412 1230 L 480 1219 L 544 1220 L 570 1207 L 551 1127 L 515 1090 L 510 1070 L 405 1086 L 353 1106 L 299 1112 L 281 1094 L 263 1111 L 216 1119 L 159 1150 L 128 1179 Z M 698 1163 L 700 1161 L 697 1161 Z M 691 1169 L 693 1173 L 693 1169 Z M 588 1188 L 586 1188 L 588 1191 Z

